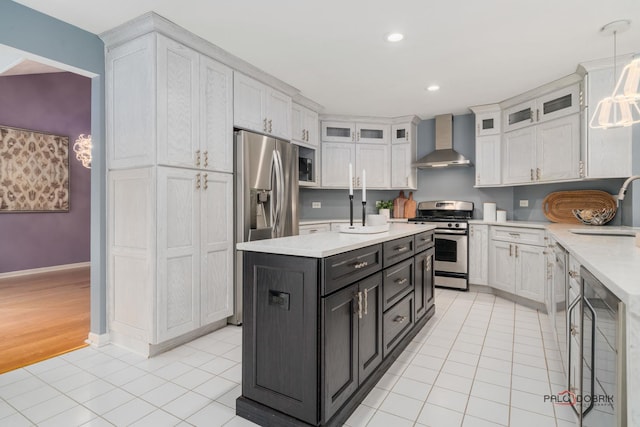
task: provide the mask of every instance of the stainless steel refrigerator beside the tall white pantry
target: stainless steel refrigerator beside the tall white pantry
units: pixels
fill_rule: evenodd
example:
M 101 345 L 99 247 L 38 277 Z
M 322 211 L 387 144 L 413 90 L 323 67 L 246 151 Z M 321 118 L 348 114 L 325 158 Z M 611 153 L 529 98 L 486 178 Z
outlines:
M 236 243 L 298 234 L 298 146 L 235 132 Z M 235 312 L 242 323 L 242 252 L 235 257 Z

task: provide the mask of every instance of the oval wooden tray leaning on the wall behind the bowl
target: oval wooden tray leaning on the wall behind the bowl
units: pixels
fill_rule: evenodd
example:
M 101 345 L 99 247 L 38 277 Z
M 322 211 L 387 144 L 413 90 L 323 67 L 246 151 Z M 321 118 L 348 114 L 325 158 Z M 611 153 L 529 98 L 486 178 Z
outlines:
M 551 222 L 581 224 L 573 215 L 573 209 L 603 208 L 616 210 L 616 201 L 611 194 L 600 190 L 556 191 L 542 201 L 544 216 Z

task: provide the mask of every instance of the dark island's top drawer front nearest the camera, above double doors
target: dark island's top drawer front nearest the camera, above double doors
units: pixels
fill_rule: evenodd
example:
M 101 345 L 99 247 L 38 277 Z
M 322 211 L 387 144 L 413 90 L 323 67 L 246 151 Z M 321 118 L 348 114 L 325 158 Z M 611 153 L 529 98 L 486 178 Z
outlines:
M 322 295 L 327 295 L 382 269 L 382 245 L 334 255 L 323 263 Z

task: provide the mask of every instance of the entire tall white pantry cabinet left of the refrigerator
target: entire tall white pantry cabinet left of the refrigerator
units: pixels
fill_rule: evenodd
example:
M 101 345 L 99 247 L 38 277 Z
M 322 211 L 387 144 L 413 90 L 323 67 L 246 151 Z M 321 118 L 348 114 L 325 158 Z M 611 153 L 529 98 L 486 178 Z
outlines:
M 156 31 L 105 44 L 109 334 L 148 356 L 233 312 L 233 74 Z

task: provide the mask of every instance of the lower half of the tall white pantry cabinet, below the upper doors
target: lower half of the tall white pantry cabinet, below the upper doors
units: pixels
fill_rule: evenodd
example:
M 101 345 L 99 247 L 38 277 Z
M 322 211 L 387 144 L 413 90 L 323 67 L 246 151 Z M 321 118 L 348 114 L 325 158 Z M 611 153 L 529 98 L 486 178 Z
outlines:
M 114 342 L 149 355 L 153 345 L 232 314 L 233 211 L 221 202 L 232 196 L 228 173 L 167 167 L 111 172 Z

